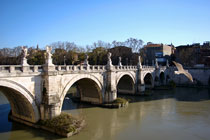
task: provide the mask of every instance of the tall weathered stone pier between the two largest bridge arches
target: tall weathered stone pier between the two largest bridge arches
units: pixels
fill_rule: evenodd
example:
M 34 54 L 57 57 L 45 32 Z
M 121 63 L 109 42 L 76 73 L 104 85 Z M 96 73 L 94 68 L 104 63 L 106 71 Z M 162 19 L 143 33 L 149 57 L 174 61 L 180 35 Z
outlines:
M 48 58 L 46 64 L 43 65 L 43 90 L 42 102 L 40 105 L 41 119 L 51 119 L 60 115 L 61 101 L 58 91 L 58 74 L 55 71 L 55 65 L 52 64 L 52 59 Z

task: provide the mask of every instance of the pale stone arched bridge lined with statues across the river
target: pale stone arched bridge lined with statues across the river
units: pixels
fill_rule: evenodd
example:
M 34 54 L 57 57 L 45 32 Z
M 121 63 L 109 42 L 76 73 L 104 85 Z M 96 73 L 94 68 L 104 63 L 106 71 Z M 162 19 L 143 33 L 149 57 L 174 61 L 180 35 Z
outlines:
M 23 52 L 27 53 L 26 52 Z M 117 94 L 142 94 L 145 88 L 164 85 L 170 76 L 169 67 L 112 65 L 108 54 L 106 66 L 54 65 L 47 48 L 44 65 L 28 65 L 26 54 L 21 65 L 0 66 L 0 92 L 11 105 L 12 117 L 35 123 L 61 113 L 69 89 L 76 85 L 81 101 L 95 104 L 112 102 Z

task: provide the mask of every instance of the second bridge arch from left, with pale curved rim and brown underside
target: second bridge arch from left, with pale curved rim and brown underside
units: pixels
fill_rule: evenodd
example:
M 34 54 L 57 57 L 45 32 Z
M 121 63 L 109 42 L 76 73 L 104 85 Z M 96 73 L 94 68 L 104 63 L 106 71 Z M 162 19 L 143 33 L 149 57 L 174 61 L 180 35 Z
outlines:
M 74 84 L 78 84 L 79 86 L 79 91 L 81 92 L 81 100 L 94 103 L 103 102 L 102 83 L 99 81 L 99 79 L 90 74 L 80 74 L 71 78 L 71 80 L 69 80 L 69 82 L 67 82 L 65 85 L 60 96 L 60 109 L 62 109 L 63 101 L 67 92 Z M 89 94 L 90 92 L 92 95 Z M 95 99 L 93 100 L 93 98 Z

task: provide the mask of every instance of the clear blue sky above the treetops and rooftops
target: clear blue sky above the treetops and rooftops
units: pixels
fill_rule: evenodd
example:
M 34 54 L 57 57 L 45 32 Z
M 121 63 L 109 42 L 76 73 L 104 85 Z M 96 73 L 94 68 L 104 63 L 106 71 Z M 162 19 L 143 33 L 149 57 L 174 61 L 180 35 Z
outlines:
M 98 40 L 210 41 L 210 0 L 0 0 L 0 48 Z

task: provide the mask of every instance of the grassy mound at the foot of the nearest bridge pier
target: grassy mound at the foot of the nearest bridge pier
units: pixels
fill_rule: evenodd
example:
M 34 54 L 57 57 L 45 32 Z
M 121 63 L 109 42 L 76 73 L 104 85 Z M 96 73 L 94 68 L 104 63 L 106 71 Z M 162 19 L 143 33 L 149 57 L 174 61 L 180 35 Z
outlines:
M 61 115 L 52 119 L 41 120 L 39 124 L 56 131 L 69 133 L 75 132 L 77 128 L 80 128 L 81 122 L 81 119 L 77 119 L 70 114 L 61 113 Z

